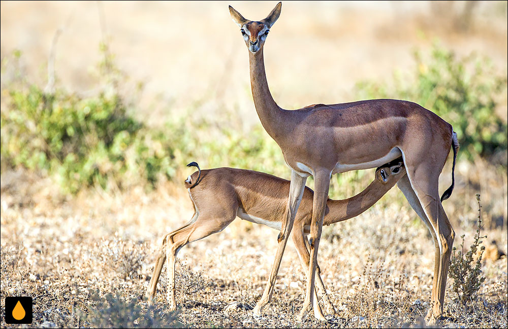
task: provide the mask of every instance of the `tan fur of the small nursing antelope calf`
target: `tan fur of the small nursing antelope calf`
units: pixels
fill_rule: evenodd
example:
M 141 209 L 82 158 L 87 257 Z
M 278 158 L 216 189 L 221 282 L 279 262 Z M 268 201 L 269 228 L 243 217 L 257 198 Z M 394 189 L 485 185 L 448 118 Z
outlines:
M 382 170 L 387 177 L 386 181 L 381 179 Z M 328 200 L 326 225 L 344 221 L 362 213 L 385 195 L 404 175 L 402 160 L 394 161 L 378 168 L 375 172 L 376 178 L 358 195 L 345 200 Z M 189 189 L 197 179 L 198 172 L 190 175 L 190 180 L 185 181 L 185 188 Z M 176 307 L 174 269 L 178 250 L 190 242 L 224 230 L 233 222 L 239 210 L 268 222 L 282 222 L 289 190 L 289 180 L 263 172 L 234 168 L 201 170 L 199 184 L 189 189 L 190 200 L 196 210 L 193 219 L 187 225 L 165 236 L 146 296 L 149 299 L 155 296 L 157 281 L 167 259 L 169 285 L 167 298 L 170 307 L 174 309 Z M 296 229 L 292 233 L 304 270 L 308 267 L 310 258 L 308 241 L 304 235 L 309 233 L 306 227 L 311 223 L 312 198 L 313 191 L 305 188 L 300 211 L 295 220 Z M 334 307 L 326 294 L 320 271 L 317 272 L 317 279 L 317 288 L 323 295 L 327 309 L 334 313 Z M 314 294 L 316 294 L 315 291 Z M 315 297 L 314 308 L 322 312 L 317 303 L 317 295 Z

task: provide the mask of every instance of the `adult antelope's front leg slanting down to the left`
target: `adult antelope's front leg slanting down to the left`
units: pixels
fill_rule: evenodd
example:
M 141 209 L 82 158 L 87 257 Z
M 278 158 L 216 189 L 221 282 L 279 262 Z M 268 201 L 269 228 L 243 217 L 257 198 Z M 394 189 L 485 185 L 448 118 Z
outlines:
M 300 176 L 294 170 L 291 172 L 289 202 L 288 207 L 286 208 L 285 211 L 285 216 L 283 218 L 282 229 L 277 238 L 279 245 L 277 247 L 275 261 L 273 262 L 270 277 L 268 278 L 268 282 L 265 291 L 263 292 L 263 296 L 261 297 L 261 299 L 256 304 L 256 307 L 253 310 L 253 314 L 255 316 L 261 316 L 261 311 L 263 307 L 265 307 L 265 305 L 270 303 L 270 300 L 272 299 L 273 286 L 275 284 L 277 272 L 279 271 L 280 261 L 282 260 L 282 254 L 284 253 L 285 245 L 288 242 L 288 236 L 291 233 L 291 229 L 293 228 L 293 222 L 295 221 L 298 206 L 300 205 L 300 201 L 302 201 L 306 181 L 307 177 Z

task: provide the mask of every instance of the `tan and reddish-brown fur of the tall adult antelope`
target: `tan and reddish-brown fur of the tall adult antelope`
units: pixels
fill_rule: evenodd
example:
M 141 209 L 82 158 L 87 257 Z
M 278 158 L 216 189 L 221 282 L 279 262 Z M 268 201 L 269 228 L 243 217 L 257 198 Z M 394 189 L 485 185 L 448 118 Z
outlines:
M 278 18 L 280 9 L 279 3 L 265 19 L 270 22 L 270 27 Z M 231 7 L 230 12 L 236 21 L 234 13 L 238 12 Z M 249 21 L 244 19 L 242 23 L 248 25 Z M 394 99 L 315 104 L 293 111 L 282 109 L 275 103 L 268 89 L 263 46 L 264 42 L 255 52 L 249 48 L 254 104 L 263 127 L 277 142 L 285 162 L 296 173 L 292 174 L 294 190 L 289 194 L 277 254 L 283 253 L 291 232 L 298 210 L 298 197 L 303 192 L 305 179 L 309 174 L 314 176 L 310 275 L 307 277 L 300 318 L 313 304 L 313 273 L 317 264 L 330 175 L 375 167 L 379 165 L 379 161 L 387 162 L 402 155 L 407 181 L 399 187 L 406 198 L 411 200 L 411 206 L 425 222 L 434 240 L 435 266 L 431 296 L 433 306 L 427 319 L 435 322 L 442 314 L 444 288 L 455 237 L 438 193 L 439 174 L 452 147 L 452 126 L 416 103 Z M 309 170 L 302 170 L 302 167 Z M 280 262 L 279 258 L 276 258 L 272 267 L 269 285 L 275 280 L 279 266 L 277 262 Z M 269 301 L 269 291 L 272 289 L 269 285 L 255 308 L 256 314 L 260 314 Z M 324 319 L 320 314 L 316 314 L 315 310 L 314 316 Z

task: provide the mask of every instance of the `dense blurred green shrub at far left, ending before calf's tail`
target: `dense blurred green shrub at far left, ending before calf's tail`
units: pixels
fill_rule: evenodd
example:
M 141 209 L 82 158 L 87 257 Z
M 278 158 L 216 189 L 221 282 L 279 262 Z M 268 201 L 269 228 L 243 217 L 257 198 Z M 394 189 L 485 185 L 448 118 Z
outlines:
M 48 96 L 35 85 L 8 90 L 1 115 L 2 158 L 10 166 L 58 174 L 62 187 L 171 177 L 172 148 L 129 114 L 118 94 L 83 98 L 58 90 Z M 166 169 L 166 170 L 165 170 Z

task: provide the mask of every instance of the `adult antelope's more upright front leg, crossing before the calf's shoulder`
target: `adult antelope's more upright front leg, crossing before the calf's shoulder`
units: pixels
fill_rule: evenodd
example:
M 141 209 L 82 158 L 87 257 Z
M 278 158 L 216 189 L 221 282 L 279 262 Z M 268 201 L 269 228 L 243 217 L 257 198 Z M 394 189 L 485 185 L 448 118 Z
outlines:
M 311 241 L 309 244 L 310 262 L 307 272 L 307 290 L 305 291 L 303 308 L 299 315 L 300 319 L 303 319 L 305 313 L 312 307 L 314 277 L 317 267 L 317 250 L 321 239 L 321 231 L 323 229 L 323 218 L 325 217 L 328 189 L 330 188 L 330 174 L 328 170 L 316 170 L 314 172 L 314 200 L 312 204 L 312 220 L 310 222 Z

